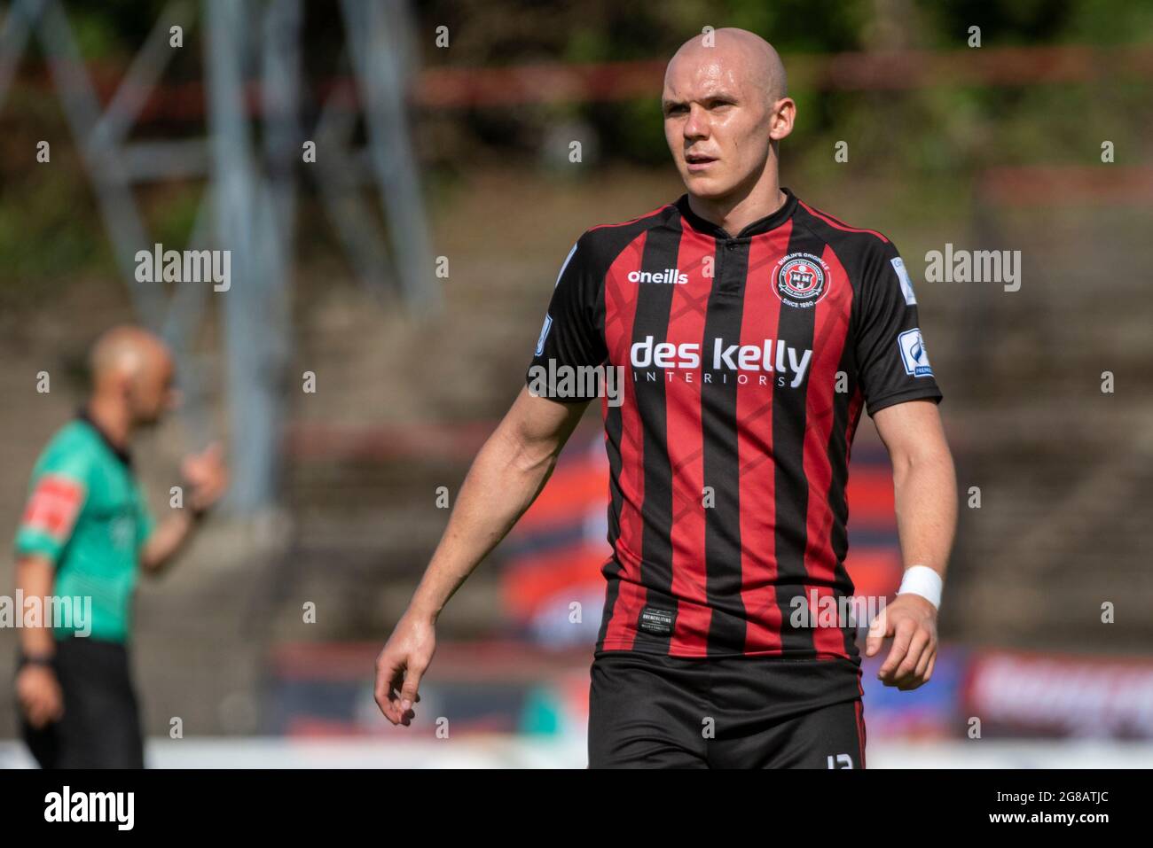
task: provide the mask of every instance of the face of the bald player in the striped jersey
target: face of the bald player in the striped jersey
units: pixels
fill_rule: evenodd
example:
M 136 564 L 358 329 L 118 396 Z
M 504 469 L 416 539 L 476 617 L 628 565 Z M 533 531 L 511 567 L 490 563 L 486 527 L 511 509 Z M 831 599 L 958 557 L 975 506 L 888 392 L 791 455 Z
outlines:
M 665 74 L 664 136 L 691 195 L 722 199 L 755 182 L 770 146 L 767 92 L 714 51 L 677 56 Z

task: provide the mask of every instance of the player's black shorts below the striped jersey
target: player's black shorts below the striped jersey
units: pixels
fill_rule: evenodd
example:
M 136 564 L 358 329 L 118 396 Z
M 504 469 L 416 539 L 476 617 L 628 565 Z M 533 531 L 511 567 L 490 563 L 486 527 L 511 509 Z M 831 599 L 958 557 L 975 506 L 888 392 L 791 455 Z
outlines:
M 589 690 L 590 768 L 864 768 L 850 660 L 681 659 L 602 651 Z

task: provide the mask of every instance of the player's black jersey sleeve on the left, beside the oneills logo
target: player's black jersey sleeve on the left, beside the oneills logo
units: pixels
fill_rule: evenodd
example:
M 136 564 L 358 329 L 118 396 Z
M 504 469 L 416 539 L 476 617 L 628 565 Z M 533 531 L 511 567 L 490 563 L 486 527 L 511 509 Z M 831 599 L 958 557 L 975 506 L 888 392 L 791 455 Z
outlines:
M 586 234 L 568 251 L 552 289 L 525 377 L 534 394 L 568 402 L 595 396 L 589 381 L 580 377 L 608 358 L 597 320 L 598 277 Z M 568 383 L 564 380 L 566 372 L 573 378 Z

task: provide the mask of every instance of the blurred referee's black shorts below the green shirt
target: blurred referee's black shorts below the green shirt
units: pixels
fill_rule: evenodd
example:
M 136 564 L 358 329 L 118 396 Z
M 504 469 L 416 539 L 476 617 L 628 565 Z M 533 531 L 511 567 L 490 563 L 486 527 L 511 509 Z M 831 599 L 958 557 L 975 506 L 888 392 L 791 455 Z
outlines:
M 59 721 L 21 736 L 42 768 L 143 768 L 144 739 L 128 650 L 114 642 L 68 638 L 53 660 L 63 691 Z

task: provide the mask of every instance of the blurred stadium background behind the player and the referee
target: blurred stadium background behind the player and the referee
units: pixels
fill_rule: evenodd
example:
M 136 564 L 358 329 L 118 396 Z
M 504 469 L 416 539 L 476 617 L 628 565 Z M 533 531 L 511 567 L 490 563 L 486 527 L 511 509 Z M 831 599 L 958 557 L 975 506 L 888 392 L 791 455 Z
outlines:
M 10 0 L 0 532 L 118 323 L 180 358 L 184 407 L 135 452 L 153 512 L 187 450 L 220 438 L 233 464 L 227 506 L 138 593 L 150 764 L 585 765 L 595 408 L 442 616 L 407 730 L 379 716 L 372 662 L 570 247 L 683 194 L 661 82 L 704 26 L 782 53 L 782 183 L 896 242 L 945 394 L 962 515 L 942 656 L 915 692 L 866 661 L 869 766 L 1153 762 L 1153 6 Z M 232 287 L 136 282 L 157 243 L 231 250 Z M 947 245 L 1020 251 L 1019 289 L 927 281 Z M 891 595 L 871 424 L 850 510 L 858 591 Z M 0 595 L 12 565 L 9 545 Z M 15 649 L 0 629 L 0 765 L 24 766 Z

